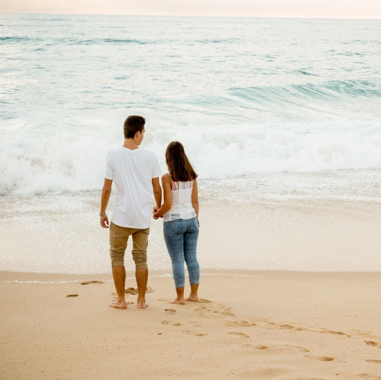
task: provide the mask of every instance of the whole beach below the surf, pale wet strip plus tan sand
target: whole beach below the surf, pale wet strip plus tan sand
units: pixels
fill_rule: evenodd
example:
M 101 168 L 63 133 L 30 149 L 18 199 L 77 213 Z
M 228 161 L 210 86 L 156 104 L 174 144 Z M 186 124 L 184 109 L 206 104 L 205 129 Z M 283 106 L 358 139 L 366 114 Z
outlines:
M 1 379 L 380 379 L 380 205 L 226 202 L 221 209 L 204 203 L 203 302 L 169 303 L 174 283 L 169 258 L 162 263 L 158 254 L 164 249 L 159 221 L 151 227 L 147 310 L 136 308 L 132 294 L 127 310 L 109 307 L 115 288 L 107 249 L 102 259 L 94 252 L 95 261 L 107 263 L 102 273 L 1 272 Z M 107 247 L 95 209 L 93 218 L 78 214 L 73 231 L 62 228 L 65 212 L 46 214 L 35 216 L 38 223 L 26 220 L 62 231 L 73 247 L 87 238 Z M 86 218 L 91 228 L 79 222 Z M 10 238 L 16 225 L 19 239 Z M 21 217 L 2 218 L 7 250 L 21 254 L 22 226 Z M 27 241 L 38 252 L 56 239 L 46 233 L 42 241 L 38 234 Z M 60 252 L 65 249 L 55 256 Z M 82 258 L 84 265 L 89 258 Z M 229 260 L 238 268 L 227 269 Z M 126 288 L 136 287 L 129 254 L 125 262 Z M 294 269 L 284 270 L 287 265 Z M 102 283 L 81 285 L 89 281 Z

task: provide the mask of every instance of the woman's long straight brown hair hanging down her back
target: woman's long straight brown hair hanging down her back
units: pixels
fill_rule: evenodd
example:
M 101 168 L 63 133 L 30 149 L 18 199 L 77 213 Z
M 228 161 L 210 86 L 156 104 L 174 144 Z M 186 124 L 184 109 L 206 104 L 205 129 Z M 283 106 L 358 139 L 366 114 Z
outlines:
M 169 177 L 175 182 L 192 181 L 198 177 L 185 154 L 183 144 L 178 141 L 169 142 L 165 151 L 165 161 L 167 162 Z

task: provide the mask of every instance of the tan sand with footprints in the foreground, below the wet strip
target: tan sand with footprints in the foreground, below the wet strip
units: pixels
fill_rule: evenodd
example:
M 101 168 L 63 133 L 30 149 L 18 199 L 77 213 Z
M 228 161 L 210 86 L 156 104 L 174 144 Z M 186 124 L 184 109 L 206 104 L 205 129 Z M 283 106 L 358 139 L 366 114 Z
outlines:
M 115 310 L 109 274 L 0 272 L 0 379 L 381 379 L 380 273 L 201 280 L 203 302 L 156 273 L 147 310 Z

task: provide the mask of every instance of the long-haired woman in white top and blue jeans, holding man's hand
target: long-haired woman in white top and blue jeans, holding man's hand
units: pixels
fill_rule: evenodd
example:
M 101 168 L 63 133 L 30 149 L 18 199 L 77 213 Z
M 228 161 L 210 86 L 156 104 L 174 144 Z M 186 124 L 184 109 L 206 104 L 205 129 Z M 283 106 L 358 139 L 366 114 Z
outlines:
M 184 260 L 187 263 L 191 292 L 187 301 L 198 301 L 200 267 L 196 258 L 198 239 L 197 174 L 180 142 L 167 146 L 165 160 L 169 173 L 162 176 L 164 203 L 154 219 L 164 218 L 164 239 L 172 262 L 177 297 L 171 303 L 185 304 Z

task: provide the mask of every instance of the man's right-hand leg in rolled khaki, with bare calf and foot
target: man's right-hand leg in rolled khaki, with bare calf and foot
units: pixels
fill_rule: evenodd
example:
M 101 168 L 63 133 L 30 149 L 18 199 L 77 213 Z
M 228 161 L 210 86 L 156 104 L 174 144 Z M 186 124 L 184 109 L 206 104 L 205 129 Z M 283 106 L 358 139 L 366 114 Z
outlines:
M 147 266 L 147 247 L 148 247 L 149 228 L 139 229 L 132 235 L 133 247 L 132 256 L 136 267 L 136 283 L 138 285 L 138 309 L 145 309 L 145 292 L 147 290 L 148 266 Z

